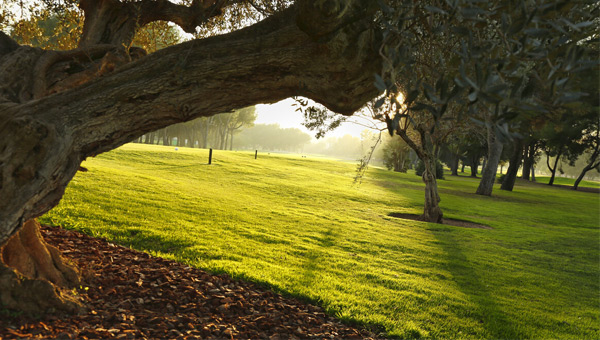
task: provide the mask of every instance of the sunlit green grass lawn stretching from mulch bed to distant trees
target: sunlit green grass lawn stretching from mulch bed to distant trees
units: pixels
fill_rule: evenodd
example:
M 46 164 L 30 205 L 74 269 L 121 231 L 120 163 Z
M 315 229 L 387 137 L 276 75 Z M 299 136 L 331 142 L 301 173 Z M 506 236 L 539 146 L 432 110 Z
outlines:
M 600 337 L 598 194 L 439 182 L 445 216 L 492 230 L 388 217 L 420 213 L 413 174 L 285 155 L 129 144 L 86 161 L 42 218 L 154 255 L 318 301 L 404 338 Z

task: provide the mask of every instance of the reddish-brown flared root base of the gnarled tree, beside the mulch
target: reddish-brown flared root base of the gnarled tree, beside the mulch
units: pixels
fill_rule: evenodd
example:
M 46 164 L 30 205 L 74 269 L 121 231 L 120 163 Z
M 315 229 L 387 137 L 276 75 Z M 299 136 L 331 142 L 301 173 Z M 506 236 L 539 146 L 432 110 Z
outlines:
M 35 220 L 25 222 L 0 249 L 0 305 L 26 314 L 78 312 L 80 303 L 58 287 L 79 285 L 76 269 L 42 239 Z

